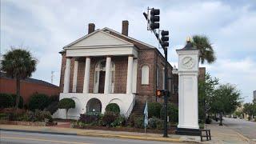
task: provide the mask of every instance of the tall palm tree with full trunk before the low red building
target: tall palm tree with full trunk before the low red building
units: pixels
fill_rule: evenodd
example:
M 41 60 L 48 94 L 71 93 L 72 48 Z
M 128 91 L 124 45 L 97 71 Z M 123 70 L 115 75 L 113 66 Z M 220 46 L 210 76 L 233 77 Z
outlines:
M 28 78 L 36 70 L 38 60 L 32 57 L 30 51 L 22 49 L 11 49 L 2 56 L 1 70 L 6 72 L 12 78 L 16 78 L 16 104 L 20 99 L 20 81 L 21 79 Z

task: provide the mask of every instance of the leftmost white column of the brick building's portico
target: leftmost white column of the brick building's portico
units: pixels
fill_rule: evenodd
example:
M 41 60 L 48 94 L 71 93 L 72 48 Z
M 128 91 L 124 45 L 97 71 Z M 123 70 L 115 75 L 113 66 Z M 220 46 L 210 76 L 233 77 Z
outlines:
M 70 91 L 70 62 L 70 58 L 66 58 L 63 93 L 69 93 Z

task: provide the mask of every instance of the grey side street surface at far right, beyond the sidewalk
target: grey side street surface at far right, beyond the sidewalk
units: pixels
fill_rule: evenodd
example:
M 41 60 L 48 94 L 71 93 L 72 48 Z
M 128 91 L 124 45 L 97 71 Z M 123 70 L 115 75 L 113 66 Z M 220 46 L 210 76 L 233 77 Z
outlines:
M 239 134 L 256 141 L 256 122 L 249 122 L 239 118 L 224 118 L 225 126 L 237 131 Z

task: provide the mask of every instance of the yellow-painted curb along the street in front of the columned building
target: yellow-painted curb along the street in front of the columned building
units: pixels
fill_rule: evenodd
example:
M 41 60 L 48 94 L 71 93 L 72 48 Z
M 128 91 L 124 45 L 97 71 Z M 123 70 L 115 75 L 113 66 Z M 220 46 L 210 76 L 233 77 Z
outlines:
M 118 135 L 118 134 L 82 133 L 78 135 L 90 136 L 90 137 L 103 137 L 103 138 L 125 138 L 125 139 L 136 139 L 136 140 L 144 140 L 144 141 L 184 142 L 178 138 L 149 138 L 149 137 L 139 137 L 139 136 L 132 136 L 132 135 Z

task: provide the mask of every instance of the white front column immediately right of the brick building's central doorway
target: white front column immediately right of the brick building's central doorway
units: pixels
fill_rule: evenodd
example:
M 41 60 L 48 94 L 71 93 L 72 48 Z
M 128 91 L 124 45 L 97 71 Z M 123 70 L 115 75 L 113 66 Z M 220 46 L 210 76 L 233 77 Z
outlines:
M 104 86 L 104 94 L 110 93 L 110 68 L 111 68 L 111 58 L 106 57 L 106 75 L 105 75 L 105 86 Z

